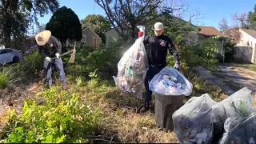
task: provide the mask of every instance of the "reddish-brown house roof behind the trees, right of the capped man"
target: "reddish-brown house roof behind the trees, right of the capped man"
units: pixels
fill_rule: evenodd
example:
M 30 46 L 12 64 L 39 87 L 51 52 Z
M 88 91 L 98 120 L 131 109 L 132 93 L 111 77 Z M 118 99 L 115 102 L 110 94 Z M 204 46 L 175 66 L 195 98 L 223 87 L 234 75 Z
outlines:
M 220 37 L 225 37 L 220 31 L 218 31 L 215 27 L 213 26 L 198 26 L 201 30 L 199 31 L 199 34 L 213 37 L 213 36 L 220 36 Z

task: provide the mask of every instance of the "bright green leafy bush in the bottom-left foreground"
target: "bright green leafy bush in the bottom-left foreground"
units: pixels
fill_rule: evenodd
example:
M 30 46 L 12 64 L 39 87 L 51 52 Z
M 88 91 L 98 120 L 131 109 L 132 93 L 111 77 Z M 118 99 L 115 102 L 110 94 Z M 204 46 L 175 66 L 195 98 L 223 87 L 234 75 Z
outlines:
M 9 123 L 2 131 L 2 142 L 80 143 L 94 134 L 99 113 L 79 102 L 77 94 L 60 93 L 52 88 L 38 94 L 38 98 L 42 105 L 29 99 L 18 116 L 10 111 Z

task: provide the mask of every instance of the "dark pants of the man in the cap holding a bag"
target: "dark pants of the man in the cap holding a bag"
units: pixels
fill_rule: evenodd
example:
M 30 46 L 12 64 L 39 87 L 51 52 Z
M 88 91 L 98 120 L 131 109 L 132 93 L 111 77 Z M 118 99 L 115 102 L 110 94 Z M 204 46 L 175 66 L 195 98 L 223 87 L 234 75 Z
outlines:
M 150 80 L 154 78 L 156 74 L 158 74 L 163 67 L 158 67 L 158 66 L 150 66 L 149 70 L 147 70 L 146 73 L 146 79 L 145 79 L 145 88 L 146 88 L 146 98 L 145 98 L 145 103 L 144 106 L 151 106 L 151 98 L 152 98 L 152 91 L 150 90 Z

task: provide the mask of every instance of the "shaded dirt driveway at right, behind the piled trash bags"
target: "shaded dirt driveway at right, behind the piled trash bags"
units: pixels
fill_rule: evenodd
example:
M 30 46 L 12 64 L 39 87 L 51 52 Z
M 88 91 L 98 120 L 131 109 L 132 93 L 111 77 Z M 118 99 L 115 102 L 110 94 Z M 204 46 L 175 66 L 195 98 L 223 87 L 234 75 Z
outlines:
M 214 72 L 202 67 L 198 67 L 195 71 L 210 85 L 219 86 L 227 95 L 234 94 L 242 87 L 248 87 L 252 90 L 253 105 L 256 106 L 256 72 L 232 65 L 219 66 L 219 70 Z

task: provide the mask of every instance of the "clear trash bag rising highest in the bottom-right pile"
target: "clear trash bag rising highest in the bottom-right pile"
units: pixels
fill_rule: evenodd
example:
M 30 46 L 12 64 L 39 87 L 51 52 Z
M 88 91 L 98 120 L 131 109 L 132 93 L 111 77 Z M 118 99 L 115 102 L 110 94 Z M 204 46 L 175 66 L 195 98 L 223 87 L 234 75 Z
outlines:
M 214 141 L 220 143 L 227 142 L 228 140 L 226 139 L 229 139 L 227 137 L 230 134 L 230 128 L 226 126 L 233 126 L 234 123 L 232 122 L 234 120 L 241 121 L 244 118 L 248 118 L 251 114 L 256 113 L 255 107 L 251 104 L 253 97 L 250 93 L 251 90 L 243 87 L 241 90 L 238 90 L 222 102 L 218 102 L 213 106 Z

